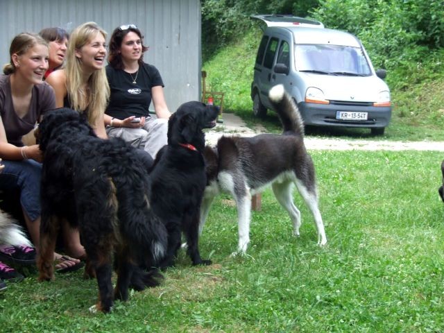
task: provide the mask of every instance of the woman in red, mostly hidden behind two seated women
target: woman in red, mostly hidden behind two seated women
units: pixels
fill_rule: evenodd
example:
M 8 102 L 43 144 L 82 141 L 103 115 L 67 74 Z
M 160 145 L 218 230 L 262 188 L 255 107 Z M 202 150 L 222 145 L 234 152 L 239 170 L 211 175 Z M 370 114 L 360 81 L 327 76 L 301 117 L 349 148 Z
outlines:
M 49 67 L 44 78 L 46 79 L 56 69 L 62 67 L 68 49 L 69 34 L 63 28 L 44 28 L 39 33 L 49 46 Z

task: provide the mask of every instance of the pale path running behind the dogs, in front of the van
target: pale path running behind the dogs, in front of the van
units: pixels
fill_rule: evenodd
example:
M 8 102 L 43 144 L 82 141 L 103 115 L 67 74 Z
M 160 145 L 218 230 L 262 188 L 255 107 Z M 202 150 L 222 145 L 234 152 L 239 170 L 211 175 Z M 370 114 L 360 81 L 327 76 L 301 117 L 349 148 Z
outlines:
M 253 136 L 264 133 L 264 128 L 255 128 L 251 130 L 246 127 L 245 122 L 232 113 L 223 114 L 223 123 L 217 126 L 205 135 L 207 144 L 214 146 L 221 135 L 241 135 Z M 397 142 L 397 141 L 372 141 L 372 140 L 345 140 L 338 138 L 320 139 L 316 137 L 305 137 L 305 146 L 307 149 L 318 150 L 337 150 L 337 151 L 444 151 L 444 142 Z

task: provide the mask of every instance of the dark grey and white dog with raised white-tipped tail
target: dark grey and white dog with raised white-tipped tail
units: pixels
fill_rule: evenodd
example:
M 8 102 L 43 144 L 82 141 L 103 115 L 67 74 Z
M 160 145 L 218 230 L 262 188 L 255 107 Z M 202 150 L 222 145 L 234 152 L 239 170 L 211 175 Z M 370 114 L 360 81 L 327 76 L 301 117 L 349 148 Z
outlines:
M 282 85 L 269 93 L 280 117 L 283 133 L 261 134 L 255 137 L 221 137 L 216 148 L 205 149 L 208 184 L 201 207 L 200 230 L 214 197 L 219 192 L 230 193 L 237 205 L 239 245 L 244 253 L 250 242 L 251 196 L 271 185 L 280 205 L 293 221 L 293 233 L 298 236 L 300 212 L 293 203 L 293 185 L 305 200 L 318 232 L 318 244 L 327 243 L 321 212 L 318 209 L 314 164 L 304 145 L 304 124 L 298 108 Z

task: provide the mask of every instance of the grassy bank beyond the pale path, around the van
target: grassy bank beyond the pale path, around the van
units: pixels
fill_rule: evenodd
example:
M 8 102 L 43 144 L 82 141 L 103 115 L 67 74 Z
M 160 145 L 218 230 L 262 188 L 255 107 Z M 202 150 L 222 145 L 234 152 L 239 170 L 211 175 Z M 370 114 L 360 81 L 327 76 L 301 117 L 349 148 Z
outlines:
M 225 93 L 225 112 L 237 114 L 251 128 L 261 124 L 270 132 L 280 132 L 274 112 L 268 111 L 265 120 L 253 117 L 250 87 L 260 38 L 259 28 L 244 33 L 239 40 L 207 59 L 203 68 L 207 71 L 207 84 L 214 91 Z M 388 72 L 393 112 L 384 135 L 370 135 L 368 129 L 332 127 L 311 128 L 307 134 L 345 139 L 444 141 L 444 94 L 440 93 L 444 90 L 444 67 L 436 60 L 442 59 L 444 51 L 438 54 L 441 58 L 432 55 L 423 64 L 410 64 L 409 69 Z

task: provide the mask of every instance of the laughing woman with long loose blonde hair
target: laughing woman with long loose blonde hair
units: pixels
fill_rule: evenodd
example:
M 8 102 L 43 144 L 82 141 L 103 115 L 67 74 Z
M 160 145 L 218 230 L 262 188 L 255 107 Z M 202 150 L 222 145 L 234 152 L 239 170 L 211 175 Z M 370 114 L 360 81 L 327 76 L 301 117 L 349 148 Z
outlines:
M 85 114 L 96 135 L 102 138 L 107 138 L 103 114 L 110 96 L 105 40 L 105 31 L 95 22 L 81 24 L 69 37 L 65 68 L 46 78 L 56 93 L 56 107 Z

